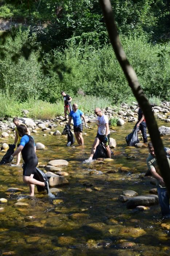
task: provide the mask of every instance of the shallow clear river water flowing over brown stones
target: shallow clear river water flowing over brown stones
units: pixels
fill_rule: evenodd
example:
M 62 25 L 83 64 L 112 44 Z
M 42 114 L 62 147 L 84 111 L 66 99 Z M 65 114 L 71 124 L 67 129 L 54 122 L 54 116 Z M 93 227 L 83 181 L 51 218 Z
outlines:
M 161 121 L 158 124 L 165 125 Z M 155 188 L 149 180 L 139 177 L 147 170 L 147 148 L 126 147 L 124 138 L 133 126 L 128 123 L 114 128 L 111 137 L 116 139 L 117 147 L 111 162 L 83 163 L 96 135 L 95 124 L 84 129 L 87 135 L 80 147 L 76 143 L 75 147 L 66 147 L 64 135 L 48 135 L 46 131 L 47 136 L 43 136 L 45 132 L 40 130 L 33 134 L 35 142 L 47 146 L 47 150 L 36 152 L 41 165 L 54 159 L 69 162 L 61 167 L 70 174 L 66 177 L 69 184 L 58 187 L 56 204 L 36 188 L 35 198 L 27 197 L 29 188 L 23 184 L 21 166 L 0 166 L 0 198 L 8 200 L 0 204 L 4 208 L 0 212 L 0 255 L 170 255 L 170 220 L 161 219 L 159 205 L 135 211 L 118 200 L 127 189 L 145 195 Z M 63 127 L 57 129 L 62 131 Z M 170 147 L 170 137 L 162 139 Z M 0 142 L 13 140 L 4 138 Z M 132 155 L 137 158 L 127 160 Z M 121 166 L 129 167 L 129 172 L 121 172 Z M 12 187 L 23 190 L 7 192 Z M 16 202 L 28 205 L 16 207 Z

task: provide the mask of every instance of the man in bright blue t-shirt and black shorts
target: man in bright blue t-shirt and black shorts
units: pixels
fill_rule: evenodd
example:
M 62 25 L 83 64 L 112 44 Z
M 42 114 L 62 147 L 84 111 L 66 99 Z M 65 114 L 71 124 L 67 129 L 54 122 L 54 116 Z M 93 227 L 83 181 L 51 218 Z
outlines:
M 84 113 L 78 109 L 78 105 L 76 103 L 74 103 L 72 105 L 73 110 L 70 112 L 70 117 L 68 120 L 68 125 L 71 124 L 71 119 L 73 119 L 73 124 L 74 124 L 74 133 L 75 133 L 75 137 L 76 140 L 80 145 L 84 144 L 84 139 L 82 136 L 82 131 L 83 131 L 83 124 L 82 124 L 82 119 L 84 120 L 85 123 L 85 127 L 88 128 L 87 124 L 86 124 L 86 119 L 84 117 Z

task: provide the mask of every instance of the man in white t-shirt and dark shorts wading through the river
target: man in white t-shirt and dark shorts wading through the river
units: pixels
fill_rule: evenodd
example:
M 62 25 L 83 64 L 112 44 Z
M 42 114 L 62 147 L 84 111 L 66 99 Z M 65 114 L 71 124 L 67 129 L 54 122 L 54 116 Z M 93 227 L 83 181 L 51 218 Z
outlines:
M 99 145 L 100 142 L 104 143 L 107 151 L 107 156 L 108 158 L 111 158 L 111 151 L 109 147 L 110 131 L 108 126 L 108 117 L 102 113 L 102 110 L 100 108 L 95 108 L 94 113 L 98 117 L 98 132 L 91 148 L 91 155 L 87 160 L 85 160 L 86 162 L 92 161 L 93 155 L 96 151 L 96 147 Z

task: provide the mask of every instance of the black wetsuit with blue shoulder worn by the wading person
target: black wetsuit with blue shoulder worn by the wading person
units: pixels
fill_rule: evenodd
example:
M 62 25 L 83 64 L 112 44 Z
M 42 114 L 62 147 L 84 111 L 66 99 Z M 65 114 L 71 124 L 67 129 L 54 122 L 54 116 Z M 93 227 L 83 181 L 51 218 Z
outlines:
M 35 173 L 35 167 L 38 164 L 38 158 L 35 154 L 35 142 L 32 136 L 25 134 L 22 136 L 20 145 L 24 146 L 21 154 L 24 160 L 23 175 L 31 176 Z

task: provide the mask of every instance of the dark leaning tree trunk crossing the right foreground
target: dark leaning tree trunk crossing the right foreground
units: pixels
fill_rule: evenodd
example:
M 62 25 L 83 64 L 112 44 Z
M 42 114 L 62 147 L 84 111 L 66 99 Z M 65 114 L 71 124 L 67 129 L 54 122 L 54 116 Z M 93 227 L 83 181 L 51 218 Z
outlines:
M 139 102 L 143 114 L 145 115 L 147 128 L 149 130 L 150 138 L 154 146 L 158 166 L 170 195 L 170 167 L 166 158 L 163 143 L 158 130 L 158 125 L 152 112 L 152 108 L 139 84 L 134 69 L 131 67 L 129 61 L 126 58 L 126 54 L 122 48 L 122 45 L 120 44 L 110 0 L 99 0 L 99 2 L 103 10 L 108 35 L 110 37 L 110 42 L 114 49 L 116 58 L 118 59 L 124 75 L 126 76 L 126 79 L 129 83 L 129 86 L 131 87 L 134 96 Z

